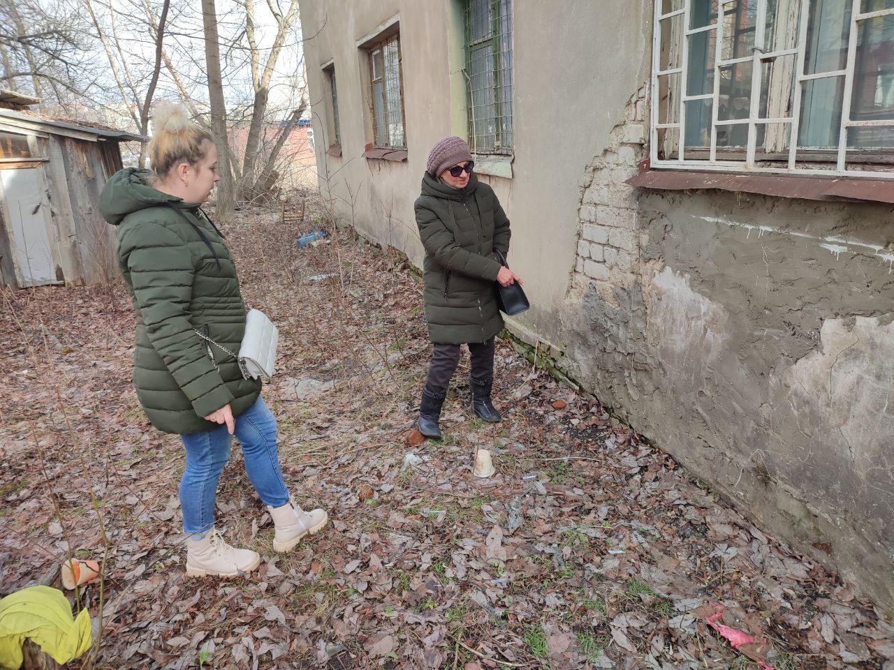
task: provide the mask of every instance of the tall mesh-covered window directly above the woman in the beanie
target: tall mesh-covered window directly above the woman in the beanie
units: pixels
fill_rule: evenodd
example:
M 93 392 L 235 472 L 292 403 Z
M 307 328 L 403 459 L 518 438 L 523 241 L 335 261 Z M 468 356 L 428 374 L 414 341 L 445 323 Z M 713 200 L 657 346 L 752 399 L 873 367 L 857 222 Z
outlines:
M 476 154 L 512 153 L 512 0 L 467 0 L 469 144 Z

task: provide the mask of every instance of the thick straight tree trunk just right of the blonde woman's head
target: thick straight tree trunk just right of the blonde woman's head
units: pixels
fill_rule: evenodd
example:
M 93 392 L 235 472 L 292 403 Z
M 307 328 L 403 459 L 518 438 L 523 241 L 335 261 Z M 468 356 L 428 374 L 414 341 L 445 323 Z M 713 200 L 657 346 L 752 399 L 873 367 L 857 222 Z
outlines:
M 217 146 L 217 168 L 221 180 L 217 184 L 217 218 L 222 222 L 232 222 L 236 210 L 233 192 L 232 169 L 227 160 L 228 141 L 226 135 L 226 102 L 223 99 L 221 80 L 220 41 L 217 36 L 217 13 L 215 0 L 202 0 L 202 21 L 205 26 L 205 63 L 208 72 L 208 101 L 211 104 L 211 132 Z

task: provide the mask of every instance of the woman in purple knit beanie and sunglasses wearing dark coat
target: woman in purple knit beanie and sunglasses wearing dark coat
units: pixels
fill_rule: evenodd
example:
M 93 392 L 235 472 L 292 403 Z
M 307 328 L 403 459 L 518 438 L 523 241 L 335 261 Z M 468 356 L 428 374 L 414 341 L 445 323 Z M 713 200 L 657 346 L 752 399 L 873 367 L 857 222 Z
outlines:
M 521 281 L 493 257 L 496 250 L 509 254 L 509 219 L 473 167 L 464 140 L 442 139 L 428 155 L 416 201 L 419 236 L 426 247 L 426 321 L 434 344 L 416 426 L 428 438 L 441 438 L 441 407 L 462 344 L 471 356 L 472 410 L 488 423 L 502 418 L 491 402 L 493 338 L 503 327 L 493 282 L 509 286 Z

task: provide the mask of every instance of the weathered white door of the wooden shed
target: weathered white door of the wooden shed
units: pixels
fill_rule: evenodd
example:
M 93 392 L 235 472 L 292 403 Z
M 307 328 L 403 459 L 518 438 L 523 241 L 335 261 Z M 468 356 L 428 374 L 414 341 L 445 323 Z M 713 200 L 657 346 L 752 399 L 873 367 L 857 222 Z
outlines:
M 0 170 L 0 196 L 4 201 L 6 228 L 10 233 L 15 271 L 21 286 L 55 283 L 48 226 L 50 213 L 42 166 Z

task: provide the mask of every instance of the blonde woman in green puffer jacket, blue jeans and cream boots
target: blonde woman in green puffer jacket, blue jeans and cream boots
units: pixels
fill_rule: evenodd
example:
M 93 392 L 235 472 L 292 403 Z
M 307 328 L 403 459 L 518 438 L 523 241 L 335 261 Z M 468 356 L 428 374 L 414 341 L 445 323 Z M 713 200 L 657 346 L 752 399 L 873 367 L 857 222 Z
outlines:
M 214 138 L 179 105 L 162 105 L 153 125 L 154 172 L 117 172 L 100 199 L 105 220 L 117 227 L 118 261 L 137 314 L 133 383 L 149 422 L 179 434 L 186 450 L 186 573 L 244 574 L 260 557 L 231 547 L 214 528 L 217 480 L 233 434 L 274 520 L 274 550 L 288 551 L 319 531 L 327 515 L 304 512 L 289 495 L 261 384 L 243 379 L 225 351 L 239 351 L 246 313 L 223 235 L 200 207 L 220 180 Z

